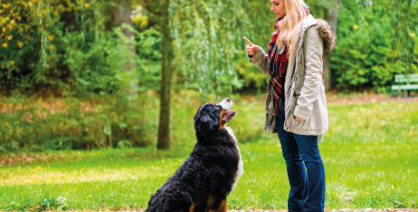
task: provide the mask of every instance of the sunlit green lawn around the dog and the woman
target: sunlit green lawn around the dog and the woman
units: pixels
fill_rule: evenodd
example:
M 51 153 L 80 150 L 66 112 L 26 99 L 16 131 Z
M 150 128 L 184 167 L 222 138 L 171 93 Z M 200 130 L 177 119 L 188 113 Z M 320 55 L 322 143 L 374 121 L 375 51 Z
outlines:
M 290 189 L 286 166 L 277 135 L 260 130 L 261 99 L 236 101 L 234 109 L 238 116 L 229 126 L 241 142 L 244 174 L 228 198 L 228 207 L 286 208 Z M 326 205 L 330 209 L 418 208 L 417 109 L 417 102 L 328 105 L 329 130 L 319 149 L 326 168 Z M 196 110 L 193 103 L 185 110 L 176 110 L 172 151 L 80 151 L 59 161 L 1 167 L 0 210 L 147 207 L 150 195 L 193 148 L 191 119 Z M 58 201 L 59 197 L 66 201 Z

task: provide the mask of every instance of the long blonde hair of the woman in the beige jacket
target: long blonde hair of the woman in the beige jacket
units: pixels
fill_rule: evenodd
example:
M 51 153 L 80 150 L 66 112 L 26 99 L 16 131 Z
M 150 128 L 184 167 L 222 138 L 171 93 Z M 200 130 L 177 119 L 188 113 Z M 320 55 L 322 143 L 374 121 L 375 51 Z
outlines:
M 303 0 L 284 0 L 286 15 L 278 23 L 277 30 L 280 34 L 277 37 L 277 46 L 279 52 L 283 53 L 286 50 L 284 48 L 286 44 L 288 58 L 290 53 L 293 53 L 297 48 L 295 38 L 299 33 L 299 25 L 307 16 L 303 5 L 305 5 Z

